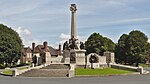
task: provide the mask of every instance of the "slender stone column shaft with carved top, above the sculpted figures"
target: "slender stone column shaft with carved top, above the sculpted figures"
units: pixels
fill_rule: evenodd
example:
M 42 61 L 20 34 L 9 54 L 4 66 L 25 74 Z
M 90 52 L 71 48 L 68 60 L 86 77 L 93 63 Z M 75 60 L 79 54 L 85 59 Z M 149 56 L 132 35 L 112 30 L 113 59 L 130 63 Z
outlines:
M 71 15 L 71 39 L 76 39 L 76 4 L 71 4 L 70 11 Z

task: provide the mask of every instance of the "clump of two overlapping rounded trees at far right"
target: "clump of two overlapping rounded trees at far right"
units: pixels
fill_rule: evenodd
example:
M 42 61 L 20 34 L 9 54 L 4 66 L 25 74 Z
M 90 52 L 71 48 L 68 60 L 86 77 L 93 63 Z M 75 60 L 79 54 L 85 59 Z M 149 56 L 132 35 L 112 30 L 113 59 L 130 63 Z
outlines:
M 131 31 L 129 35 L 122 35 L 117 45 L 117 58 L 125 63 L 136 66 L 141 62 L 145 62 L 148 53 L 148 38 L 138 30 Z

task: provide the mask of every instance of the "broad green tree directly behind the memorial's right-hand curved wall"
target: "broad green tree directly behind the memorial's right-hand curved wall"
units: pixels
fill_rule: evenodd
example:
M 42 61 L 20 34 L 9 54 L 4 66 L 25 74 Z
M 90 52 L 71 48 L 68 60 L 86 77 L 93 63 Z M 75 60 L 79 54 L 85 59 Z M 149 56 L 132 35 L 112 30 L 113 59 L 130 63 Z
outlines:
M 86 54 L 97 53 L 103 55 L 105 51 L 114 51 L 115 44 L 107 37 L 103 37 L 99 33 L 93 33 L 85 42 Z

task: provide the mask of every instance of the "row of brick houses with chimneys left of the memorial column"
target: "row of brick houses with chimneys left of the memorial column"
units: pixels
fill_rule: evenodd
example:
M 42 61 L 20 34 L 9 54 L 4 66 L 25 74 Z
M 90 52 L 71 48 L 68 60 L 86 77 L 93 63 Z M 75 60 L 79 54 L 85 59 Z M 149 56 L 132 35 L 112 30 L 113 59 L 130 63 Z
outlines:
M 32 49 L 30 47 L 23 49 L 21 63 L 31 63 L 35 56 L 37 65 L 60 63 L 63 58 L 61 45 L 59 45 L 59 49 L 54 49 L 51 46 L 48 46 L 47 42 L 37 46 L 35 46 L 35 43 L 32 43 Z

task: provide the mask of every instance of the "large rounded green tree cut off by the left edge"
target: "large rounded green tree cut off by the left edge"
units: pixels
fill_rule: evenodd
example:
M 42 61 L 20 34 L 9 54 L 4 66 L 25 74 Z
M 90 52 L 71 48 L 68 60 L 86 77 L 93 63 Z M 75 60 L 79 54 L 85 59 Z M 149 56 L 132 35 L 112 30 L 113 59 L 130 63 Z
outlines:
M 22 40 L 16 31 L 0 24 L 0 63 L 11 64 L 21 56 Z

